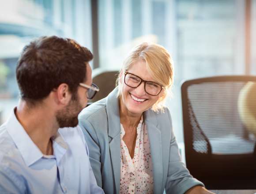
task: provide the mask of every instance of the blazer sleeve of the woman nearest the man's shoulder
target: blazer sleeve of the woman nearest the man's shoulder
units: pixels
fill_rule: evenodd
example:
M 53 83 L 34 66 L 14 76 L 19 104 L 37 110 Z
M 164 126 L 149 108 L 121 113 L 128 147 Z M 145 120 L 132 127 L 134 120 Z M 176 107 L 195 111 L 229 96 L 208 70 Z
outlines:
M 90 165 L 93 169 L 95 179 L 97 181 L 98 186 L 102 187 L 102 164 L 100 162 L 101 152 L 97 134 L 95 132 L 94 127 L 87 119 L 80 119 L 79 126 L 82 128 L 85 141 L 87 142 L 87 146 L 90 148 Z

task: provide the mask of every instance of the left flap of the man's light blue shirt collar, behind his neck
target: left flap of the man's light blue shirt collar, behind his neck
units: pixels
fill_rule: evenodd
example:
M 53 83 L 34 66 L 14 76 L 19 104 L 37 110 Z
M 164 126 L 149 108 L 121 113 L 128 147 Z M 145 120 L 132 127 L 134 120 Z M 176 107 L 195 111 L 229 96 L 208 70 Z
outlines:
M 15 110 L 16 108 L 14 108 L 7 121 L 7 131 L 19 149 L 19 152 L 21 153 L 26 165 L 30 166 L 43 157 L 43 154 L 19 123 L 15 116 Z

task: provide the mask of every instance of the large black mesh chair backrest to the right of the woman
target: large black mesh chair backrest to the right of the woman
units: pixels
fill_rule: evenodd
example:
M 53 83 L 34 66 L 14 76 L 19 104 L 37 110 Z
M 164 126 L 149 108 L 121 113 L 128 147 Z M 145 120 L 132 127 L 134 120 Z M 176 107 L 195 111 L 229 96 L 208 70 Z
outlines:
M 190 173 L 208 189 L 256 189 L 256 77 L 188 80 L 181 95 Z

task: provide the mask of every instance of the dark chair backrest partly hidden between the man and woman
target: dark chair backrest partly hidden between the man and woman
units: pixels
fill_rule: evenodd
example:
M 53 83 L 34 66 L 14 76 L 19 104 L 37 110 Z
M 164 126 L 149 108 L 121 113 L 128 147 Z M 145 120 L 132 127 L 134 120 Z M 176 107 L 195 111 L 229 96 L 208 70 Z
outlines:
M 92 82 L 100 89 L 90 102 L 96 102 L 106 97 L 116 86 L 118 76 L 117 70 L 109 70 L 105 68 L 97 68 L 92 72 Z

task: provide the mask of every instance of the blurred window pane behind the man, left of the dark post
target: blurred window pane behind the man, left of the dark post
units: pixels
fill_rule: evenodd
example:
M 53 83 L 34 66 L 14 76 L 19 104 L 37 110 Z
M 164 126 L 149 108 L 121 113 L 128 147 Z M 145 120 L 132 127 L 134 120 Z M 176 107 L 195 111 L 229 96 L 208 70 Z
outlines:
M 0 124 L 17 105 L 15 68 L 34 37 L 73 38 L 91 49 L 90 0 L 10 0 L 0 7 Z

